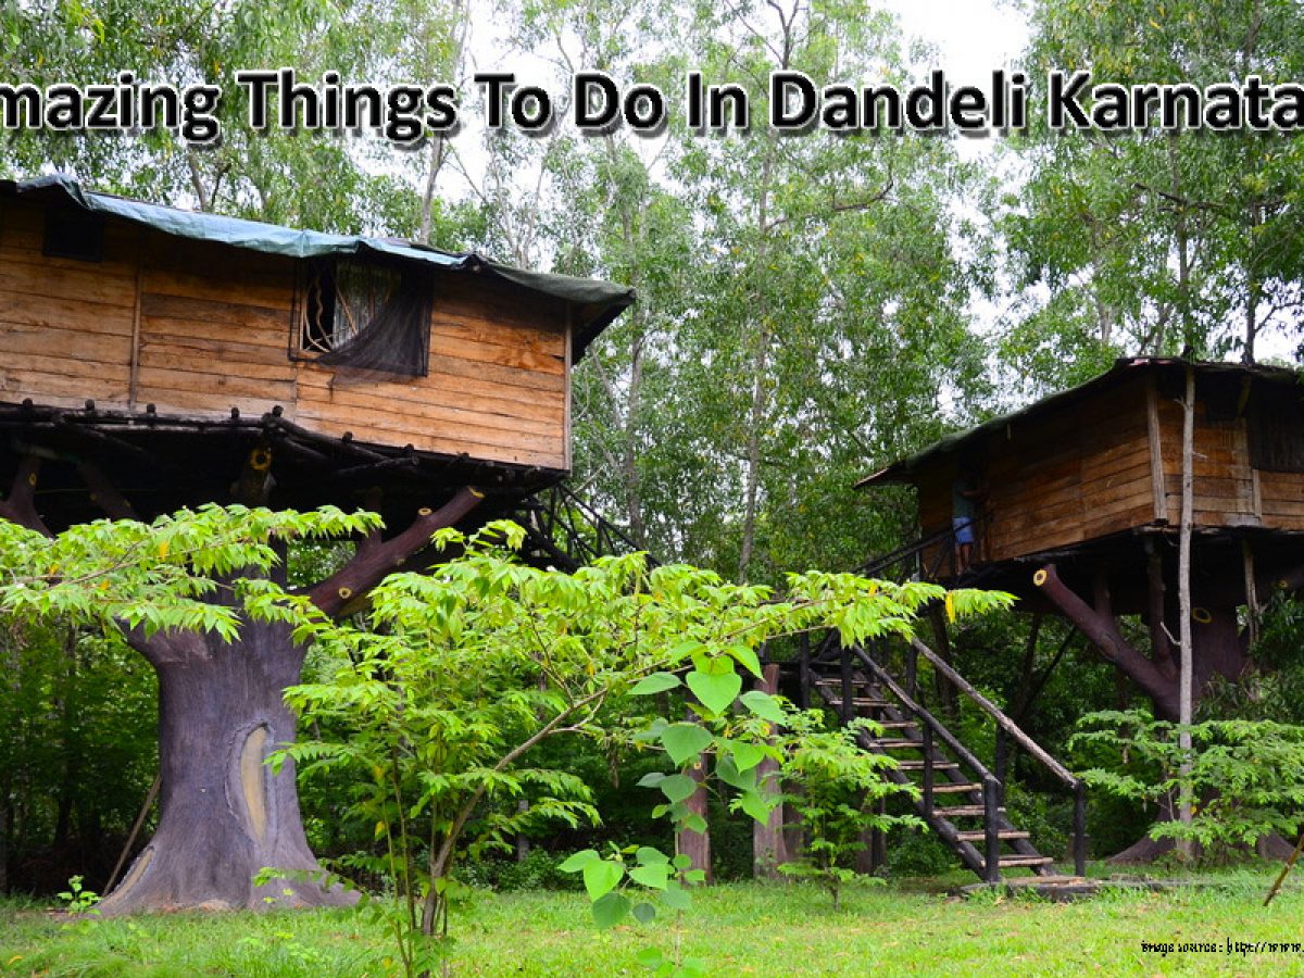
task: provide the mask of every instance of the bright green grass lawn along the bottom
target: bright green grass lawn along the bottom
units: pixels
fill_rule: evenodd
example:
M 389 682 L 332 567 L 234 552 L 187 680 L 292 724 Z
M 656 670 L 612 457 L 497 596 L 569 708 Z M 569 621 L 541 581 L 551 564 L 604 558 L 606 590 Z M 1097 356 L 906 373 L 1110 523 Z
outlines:
M 810 885 L 700 891 L 682 926 L 599 931 L 582 895 L 480 893 L 455 911 L 458 975 L 643 975 L 639 949 L 705 958 L 717 975 L 1304 974 L 1304 952 L 1226 953 L 1234 941 L 1304 943 L 1304 876 L 1261 906 L 1271 866 L 1163 893 L 1076 904 L 948 897 L 928 883 L 857 887 L 835 913 Z M 1218 953 L 1144 953 L 1141 941 Z M 0 973 L 47 975 L 383 975 L 378 926 L 352 910 L 68 922 L 0 904 Z

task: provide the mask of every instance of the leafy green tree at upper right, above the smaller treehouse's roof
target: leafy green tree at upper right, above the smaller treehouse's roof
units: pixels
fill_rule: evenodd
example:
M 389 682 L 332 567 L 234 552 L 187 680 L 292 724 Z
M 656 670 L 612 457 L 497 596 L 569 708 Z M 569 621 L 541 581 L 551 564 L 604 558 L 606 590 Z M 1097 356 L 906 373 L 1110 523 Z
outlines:
M 1031 78 L 1090 68 L 1091 83 L 1240 85 L 1292 78 L 1304 57 L 1304 13 L 1281 0 L 1038 0 L 1031 20 Z M 1047 296 L 1008 338 L 1016 370 L 1060 385 L 1120 353 L 1253 361 L 1262 333 L 1294 323 L 1294 140 L 1155 121 L 1123 137 L 1041 126 L 1012 146 L 1028 175 L 1004 201 L 1015 278 Z

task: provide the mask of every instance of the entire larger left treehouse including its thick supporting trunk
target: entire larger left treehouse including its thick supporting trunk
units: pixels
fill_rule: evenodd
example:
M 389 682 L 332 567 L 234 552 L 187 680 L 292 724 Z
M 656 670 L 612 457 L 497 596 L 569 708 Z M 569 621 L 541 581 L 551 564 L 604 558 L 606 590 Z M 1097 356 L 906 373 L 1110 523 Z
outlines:
M 529 556 L 556 562 L 565 533 L 533 494 L 570 469 L 574 363 L 631 301 L 475 254 L 0 183 L 0 518 L 379 510 L 389 536 L 299 588 L 333 617 L 466 519 L 537 518 Z M 310 875 L 292 764 L 262 763 L 295 739 L 288 625 L 119 625 L 159 679 L 159 818 L 103 911 L 349 902 Z M 308 872 L 256 887 L 262 866 Z

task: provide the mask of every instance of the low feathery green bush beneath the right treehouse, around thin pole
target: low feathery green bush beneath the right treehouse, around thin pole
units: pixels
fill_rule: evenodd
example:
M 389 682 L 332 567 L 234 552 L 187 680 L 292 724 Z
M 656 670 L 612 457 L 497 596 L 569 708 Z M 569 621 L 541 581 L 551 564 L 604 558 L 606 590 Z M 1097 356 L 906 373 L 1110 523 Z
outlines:
M 1176 810 L 1183 751 L 1179 728 L 1129 711 L 1082 717 L 1072 743 L 1112 763 L 1084 778 L 1134 802 Z M 1154 838 L 1189 838 L 1209 858 L 1253 846 L 1265 835 L 1294 837 L 1304 808 L 1304 728 L 1269 720 L 1210 720 L 1191 726 L 1189 789 L 1197 803 L 1189 825 L 1155 823 Z M 1112 755 L 1112 756 L 1111 756 Z

